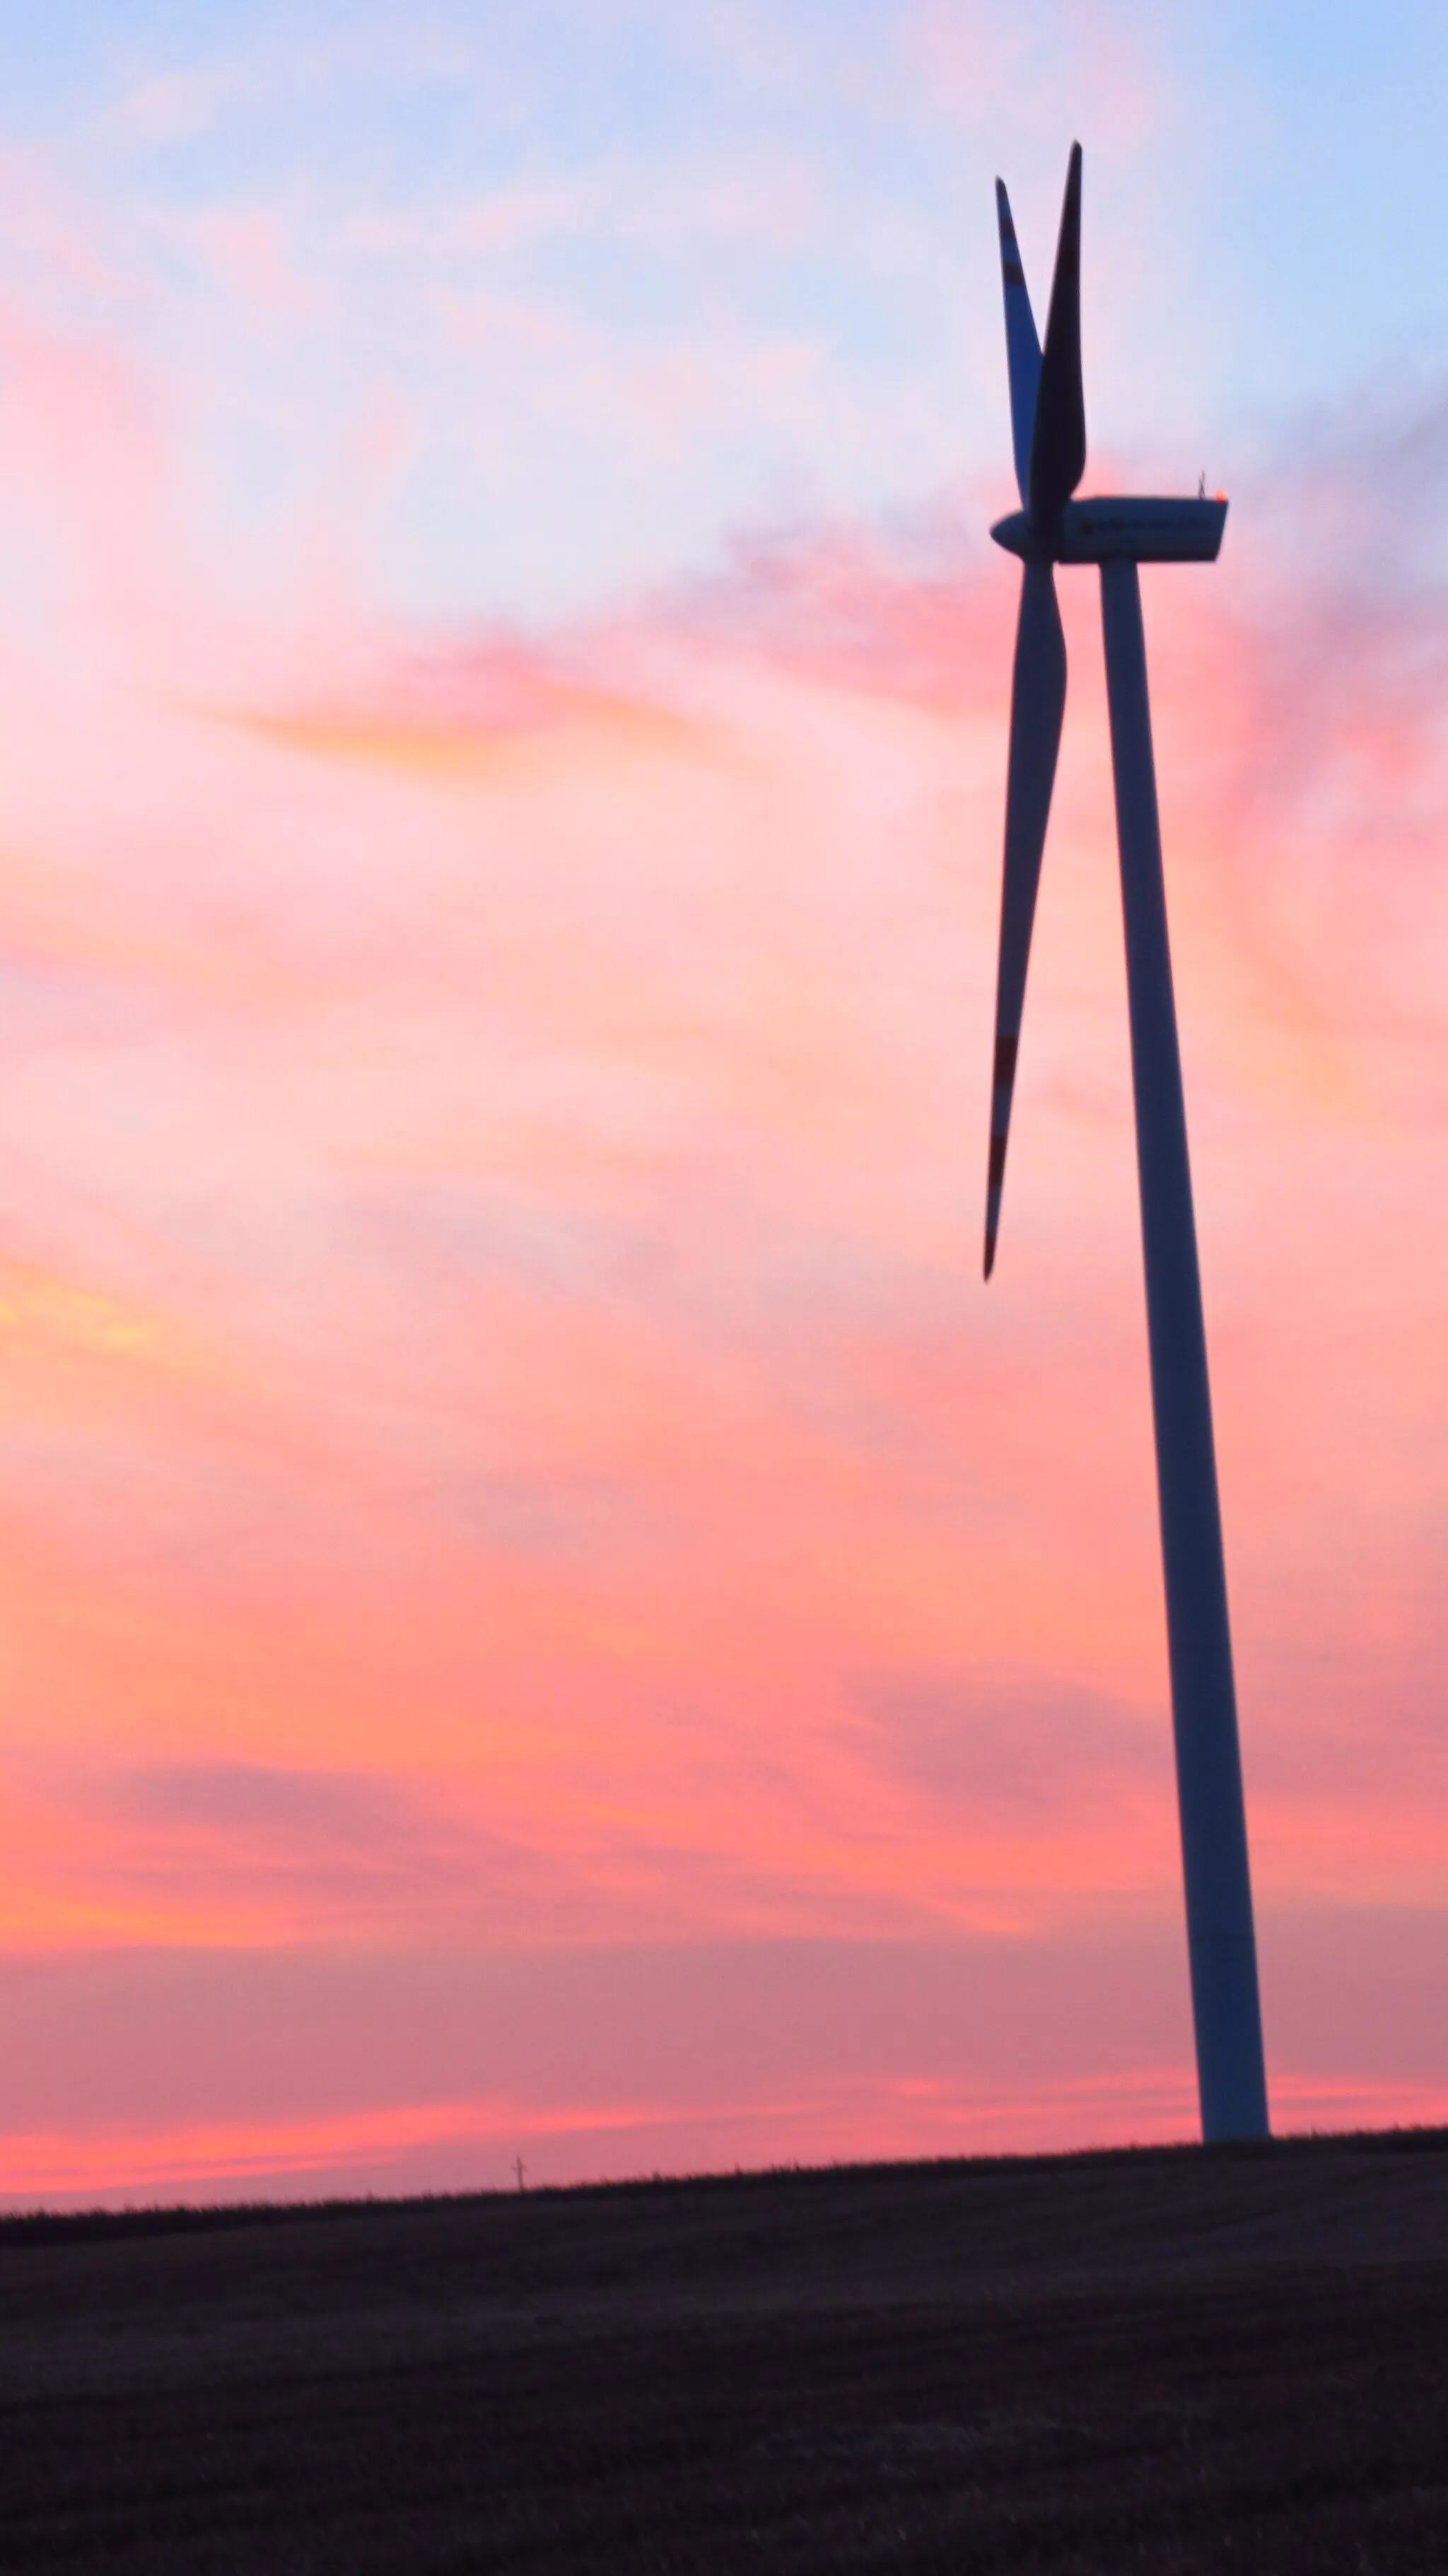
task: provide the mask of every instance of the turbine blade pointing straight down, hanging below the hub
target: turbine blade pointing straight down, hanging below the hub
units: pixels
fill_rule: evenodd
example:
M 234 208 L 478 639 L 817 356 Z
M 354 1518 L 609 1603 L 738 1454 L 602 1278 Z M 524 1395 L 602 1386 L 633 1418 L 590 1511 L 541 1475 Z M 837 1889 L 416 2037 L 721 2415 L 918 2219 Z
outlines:
M 1015 677 L 1010 683 L 1010 768 L 1005 778 L 1005 876 L 1000 886 L 1000 969 L 995 981 L 995 1072 L 989 1100 L 989 1175 L 984 1198 L 984 1275 L 995 1267 L 1000 1229 L 1000 1190 L 1005 1182 L 1005 1139 L 1010 1136 L 1010 1095 L 1015 1090 L 1015 1051 L 1025 1005 L 1025 966 L 1041 850 L 1056 783 L 1062 716 L 1067 711 L 1067 639 L 1056 608 L 1056 577 L 1049 564 L 1025 564 L 1020 582 L 1020 621 L 1015 629 Z

